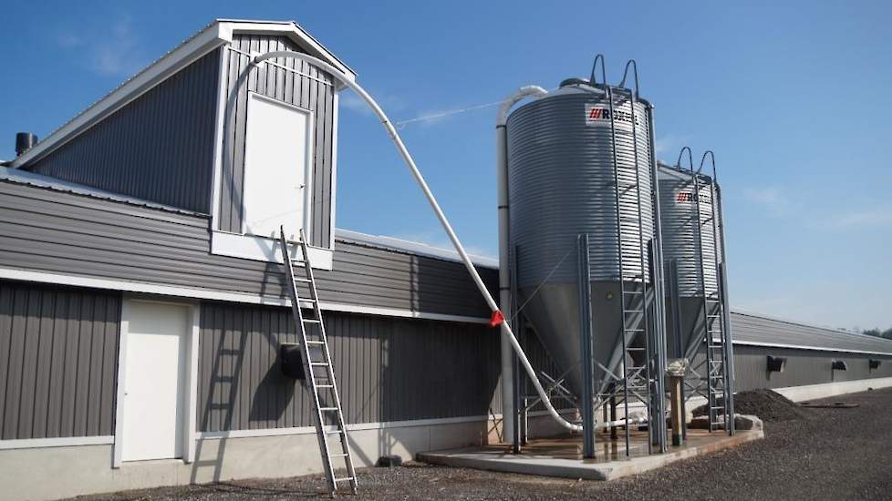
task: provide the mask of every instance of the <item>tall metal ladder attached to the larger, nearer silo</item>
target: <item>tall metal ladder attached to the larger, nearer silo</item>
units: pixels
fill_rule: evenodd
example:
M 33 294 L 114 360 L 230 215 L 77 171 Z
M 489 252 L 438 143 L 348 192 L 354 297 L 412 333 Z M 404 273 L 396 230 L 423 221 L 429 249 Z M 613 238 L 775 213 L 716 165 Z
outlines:
M 655 406 L 653 404 L 652 395 L 661 394 L 659 378 L 654 378 L 651 373 L 652 367 L 652 353 L 650 348 L 650 337 L 648 334 L 648 275 L 646 271 L 645 261 L 647 260 L 648 251 L 647 245 L 644 240 L 644 227 L 643 227 L 643 209 L 642 209 L 642 200 L 641 200 L 641 176 L 640 169 L 638 168 L 638 131 L 637 131 L 637 117 L 636 117 L 636 100 L 638 99 L 638 69 L 635 66 L 634 61 L 629 61 L 626 65 L 626 71 L 628 73 L 628 68 L 630 65 L 635 66 L 635 89 L 634 91 L 629 91 L 629 101 L 631 106 L 631 128 L 632 128 L 632 144 L 633 144 L 633 152 L 634 152 L 634 169 L 635 169 L 635 182 L 627 185 L 623 185 L 620 183 L 619 179 L 619 165 L 617 162 L 617 123 L 616 116 L 614 113 L 614 95 L 613 95 L 613 87 L 607 84 L 607 76 L 606 69 L 604 67 L 604 57 L 602 55 L 597 55 L 595 58 L 595 65 L 592 67 L 592 77 L 591 82 L 593 85 L 596 84 L 595 80 L 595 69 L 597 66 L 598 58 L 601 59 L 601 77 L 604 81 L 604 87 L 607 92 L 607 106 L 610 111 L 610 144 L 613 151 L 613 175 L 614 175 L 614 190 L 615 190 L 615 200 L 616 200 L 616 217 L 617 217 L 617 263 L 619 267 L 619 291 L 620 291 L 620 310 L 621 310 L 621 320 L 622 320 L 622 357 L 623 357 L 623 378 L 621 380 L 621 386 L 618 387 L 615 391 L 610 392 L 608 394 L 601 394 L 600 396 L 613 397 L 618 395 L 620 392 L 622 393 L 623 406 L 625 410 L 625 419 L 626 419 L 626 455 L 630 455 L 630 443 L 631 443 L 631 432 L 630 426 L 628 423 L 629 419 L 629 401 L 630 398 L 635 398 L 648 410 L 648 419 L 650 421 L 650 425 L 648 425 L 648 435 L 651 435 L 651 438 L 648 438 L 648 454 L 653 453 L 653 436 L 655 431 L 659 429 L 659 426 L 653 423 L 654 415 L 659 415 L 660 413 L 655 413 Z M 623 77 L 623 84 L 625 83 L 625 76 Z M 638 224 L 638 262 L 640 264 L 639 273 L 633 273 L 629 275 L 623 263 L 623 210 L 621 209 L 621 198 L 624 192 L 629 189 L 634 189 L 637 195 L 636 200 L 636 208 L 637 214 L 633 216 L 633 218 L 637 221 Z M 640 281 L 640 287 L 634 290 L 627 290 L 626 281 L 636 282 Z M 636 322 L 638 320 L 638 322 Z M 633 346 L 632 343 L 636 338 L 643 337 L 644 346 Z M 641 355 L 644 356 L 641 356 Z M 638 356 L 636 356 L 638 355 Z M 629 363 L 634 360 L 643 360 L 642 365 L 630 365 Z M 662 443 L 660 443 L 662 446 Z

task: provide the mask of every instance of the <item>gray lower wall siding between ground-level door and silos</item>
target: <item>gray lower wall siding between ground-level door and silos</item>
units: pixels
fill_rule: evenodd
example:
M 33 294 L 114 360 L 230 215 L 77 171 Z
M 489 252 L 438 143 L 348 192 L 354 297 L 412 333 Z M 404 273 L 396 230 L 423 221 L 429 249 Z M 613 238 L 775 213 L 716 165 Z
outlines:
M 325 317 L 347 423 L 489 413 L 497 331 L 339 312 Z M 277 363 L 279 343 L 297 339 L 289 309 L 202 302 L 201 322 L 201 431 L 314 424 L 310 394 Z

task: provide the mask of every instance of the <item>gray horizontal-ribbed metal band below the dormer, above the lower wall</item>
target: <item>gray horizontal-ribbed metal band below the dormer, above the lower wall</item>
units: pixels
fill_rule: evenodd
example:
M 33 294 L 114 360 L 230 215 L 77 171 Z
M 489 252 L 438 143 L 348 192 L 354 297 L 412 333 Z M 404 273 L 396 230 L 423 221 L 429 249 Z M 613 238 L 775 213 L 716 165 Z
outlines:
M 283 297 L 281 265 L 210 254 L 206 217 L 0 181 L 0 267 Z M 496 272 L 482 270 L 496 283 Z M 338 242 L 320 298 L 486 318 L 462 264 Z

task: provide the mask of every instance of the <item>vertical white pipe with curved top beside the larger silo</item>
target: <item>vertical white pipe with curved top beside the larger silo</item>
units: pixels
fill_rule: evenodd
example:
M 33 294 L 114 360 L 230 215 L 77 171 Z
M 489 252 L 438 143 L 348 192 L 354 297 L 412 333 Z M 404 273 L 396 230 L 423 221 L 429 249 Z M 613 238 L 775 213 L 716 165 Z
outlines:
M 498 185 L 499 204 L 499 304 L 503 312 L 511 312 L 511 271 L 508 269 L 509 243 L 508 243 L 508 130 L 505 123 L 508 121 L 508 112 L 511 108 L 524 99 L 524 97 L 542 97 L 547 94 L 544 88 L 539 86 L 526 86 L 517 89 L 511 96 L 506 97 L 499 107 L 499 113 L 495 117 L 495 170 Z M 514 408 L 514 364 L 512 360 L 513 348 L 508 336 L 502 336 L 502 430 L 504 441 L 508 442 L 514 436 L 514 420 L 511 416 L 517 412 Z

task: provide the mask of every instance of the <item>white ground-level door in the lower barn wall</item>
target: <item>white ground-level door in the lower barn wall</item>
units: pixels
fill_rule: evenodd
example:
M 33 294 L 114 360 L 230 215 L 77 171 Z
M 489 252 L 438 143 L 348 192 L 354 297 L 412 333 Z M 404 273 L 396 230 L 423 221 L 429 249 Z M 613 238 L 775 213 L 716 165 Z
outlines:
M 182 457 L 189 308 L 130 302 L 121 459 Z

